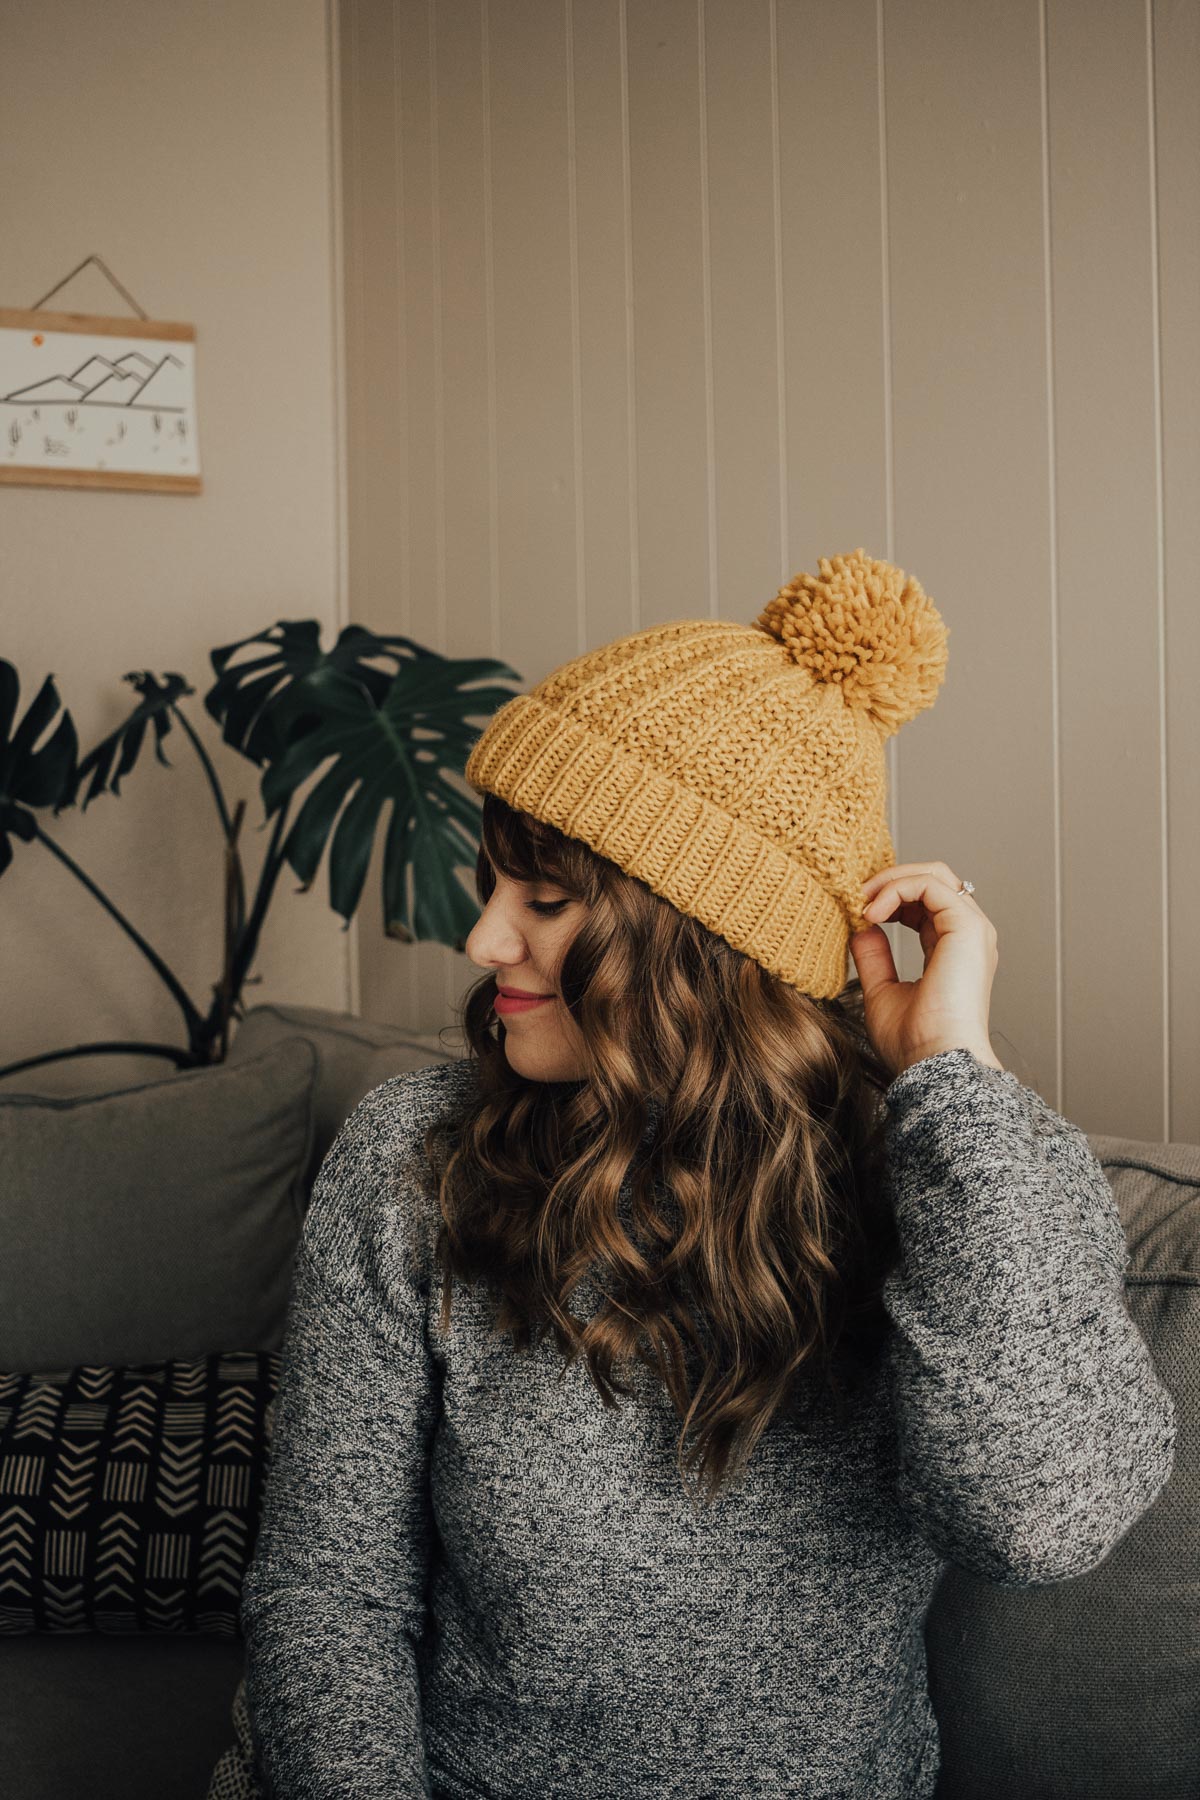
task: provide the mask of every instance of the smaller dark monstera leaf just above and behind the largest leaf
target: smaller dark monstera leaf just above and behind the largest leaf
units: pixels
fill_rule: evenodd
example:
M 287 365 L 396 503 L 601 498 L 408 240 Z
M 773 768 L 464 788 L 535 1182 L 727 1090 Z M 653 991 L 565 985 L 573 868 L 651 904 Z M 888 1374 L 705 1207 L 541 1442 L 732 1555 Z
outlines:
M 270 650 L 234 662 L 232 657 L 246 644 L 270 644 Z M 209 655 L 218 679 L 203 704 L 221 725 L 225 742 L 259 767 L 320 724 L 327 684 L 338 677 L 349 675 L 378 706 L 392 675 L 374 668 L 369 657 L 398 668 L 408 657 L 441 661 L 437 652 L 408 637 L 380 637 L 362 625 L 347 625 L 333 650 L 326 652 L 317 619 L 281 619 Z

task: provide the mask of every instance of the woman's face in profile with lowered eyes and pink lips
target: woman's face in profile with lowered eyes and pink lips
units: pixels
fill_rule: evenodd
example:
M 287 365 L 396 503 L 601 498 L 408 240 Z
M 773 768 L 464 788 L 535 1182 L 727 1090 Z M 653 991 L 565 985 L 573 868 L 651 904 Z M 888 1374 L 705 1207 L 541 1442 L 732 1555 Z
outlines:
M 583 902 L 552 882 L 516 882 L 493 873 L 497 886 L 471 927 L 466 954 L 493 970 L 498 999 L 506 992 L 549 995 L 538 1006 L 498 1008 L 509 1066 L 531 1082 L 583 1080 L 579 1028 L 558 990 L 558 970 L 583 922 Z

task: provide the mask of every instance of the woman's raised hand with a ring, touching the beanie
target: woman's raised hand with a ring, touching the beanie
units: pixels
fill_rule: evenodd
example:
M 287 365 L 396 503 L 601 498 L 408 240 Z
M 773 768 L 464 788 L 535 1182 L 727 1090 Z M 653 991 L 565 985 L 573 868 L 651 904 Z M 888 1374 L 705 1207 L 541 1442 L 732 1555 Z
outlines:
M 991 977 L 997 972 L 997 929 L 973 895 L 945 862 L 898 862 L 862 884 L 864 913 L 873 922 L 849 940 L 864 992 L 867 1037 L 892 1071 L 941 1049 L 970 1049 L 1002 1069 L 988 1037 Z M 900 981 L 883 922 L 898 918 L 921 938 L 925 972 Z

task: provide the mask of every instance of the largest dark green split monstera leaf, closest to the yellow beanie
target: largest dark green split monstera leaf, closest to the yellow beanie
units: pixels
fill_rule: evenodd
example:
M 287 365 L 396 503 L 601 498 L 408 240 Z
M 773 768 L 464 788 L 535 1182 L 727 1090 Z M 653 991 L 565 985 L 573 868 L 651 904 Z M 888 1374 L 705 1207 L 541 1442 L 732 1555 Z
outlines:
M 387 932 L 462 949 L 479 907 L 455 869 L 475 866 L 479 801 L 448 776 L 462 774 L 479 736 L 468 718 L 488 718 L 513 698 L 504 688 L 468 688 L 493 675 L 520 680 L 504 662 L 425 652 L 419 661 L 403 659 L 376 700 L 349 675 L 322 671 L 320 715 L 263 776 L 263 805 L 268 815 L 279 812 L 329 763 L 304 797 L 284 857 L 308 887 L 329 844 L 329 904 L 342 918 L 358 905 L 376 830 L 390 806 L 383 842 Z

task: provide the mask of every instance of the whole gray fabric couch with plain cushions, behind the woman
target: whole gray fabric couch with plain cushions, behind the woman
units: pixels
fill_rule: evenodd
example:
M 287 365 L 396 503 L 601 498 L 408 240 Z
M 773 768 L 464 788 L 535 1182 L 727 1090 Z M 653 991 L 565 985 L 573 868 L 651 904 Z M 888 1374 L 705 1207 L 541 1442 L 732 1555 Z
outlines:
M 77 1363 L 277 1348 L 308 1188 L 340 1120 L 389 1075 L 461 1053 L 450 1031 L 259 1006 L 221 1069 L 76 1102 L 0 1087 L 14 1249 L 0 1370 L 61 1379 Z M 1128 1307 L 1177 1402 L 1177 1467 L 1085 1577 L 1000 1589 L 946 1570 L 925 1631 L 939 1800 L 1200 1795 L 1200 1147 L 1090 1141 L 1130 1242 Z M 241 1640 L 5 1636 L 4 1483 L 0 1462 L 5 1800 L 205 1800 L 234 1741 Z

